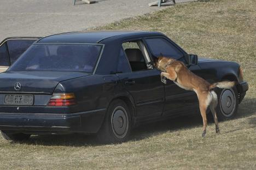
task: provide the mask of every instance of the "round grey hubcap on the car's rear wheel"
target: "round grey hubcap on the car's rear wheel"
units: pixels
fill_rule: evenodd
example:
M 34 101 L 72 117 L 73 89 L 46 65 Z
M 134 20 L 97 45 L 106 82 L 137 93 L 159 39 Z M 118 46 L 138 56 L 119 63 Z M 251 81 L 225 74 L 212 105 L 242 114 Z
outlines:
M 116 137 L 125 137 L 129 127 L 129 121 L 124 107 L 118 106 L 114 109 L 111 118 L 111 125 Z

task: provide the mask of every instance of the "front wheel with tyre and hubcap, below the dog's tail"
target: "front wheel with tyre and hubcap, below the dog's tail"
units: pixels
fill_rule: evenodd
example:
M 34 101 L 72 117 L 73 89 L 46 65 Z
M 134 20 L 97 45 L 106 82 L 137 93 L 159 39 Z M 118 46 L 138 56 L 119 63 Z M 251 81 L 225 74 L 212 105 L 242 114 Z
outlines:
M 238 110 L 238 93 L 236 87 L 219 89 L 218 105 L 216 108 L 219 120 L 229 120 L 236 116 Z

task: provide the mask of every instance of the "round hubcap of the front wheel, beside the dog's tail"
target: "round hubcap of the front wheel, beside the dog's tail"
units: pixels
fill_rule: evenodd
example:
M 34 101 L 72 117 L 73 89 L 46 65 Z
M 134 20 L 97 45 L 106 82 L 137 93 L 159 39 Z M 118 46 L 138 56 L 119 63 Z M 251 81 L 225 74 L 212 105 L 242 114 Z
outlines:
M 225 117 L 230 117 L 234 113 L 236 98 L 234 90 L 223 89 L 220 94 L 220 111 Z

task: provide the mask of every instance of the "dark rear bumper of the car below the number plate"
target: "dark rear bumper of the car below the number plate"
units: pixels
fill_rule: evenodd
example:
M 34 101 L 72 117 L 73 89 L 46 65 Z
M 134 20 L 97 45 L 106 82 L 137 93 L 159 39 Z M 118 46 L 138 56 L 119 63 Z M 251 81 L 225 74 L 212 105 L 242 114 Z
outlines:
M 96 133 L 106 109 L 69 113 L 0 113 L 0 130 L 26 133 Z

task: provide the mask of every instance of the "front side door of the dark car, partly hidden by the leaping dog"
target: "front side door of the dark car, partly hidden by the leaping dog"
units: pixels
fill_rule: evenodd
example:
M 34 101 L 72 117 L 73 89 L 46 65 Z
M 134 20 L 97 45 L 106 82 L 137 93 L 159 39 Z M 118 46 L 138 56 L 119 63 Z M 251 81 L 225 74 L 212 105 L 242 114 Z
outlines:
M 150 49 L 152 57 L 165 56 L 178 59 L 185 63 L 185 52 L 176 44 L 164 37 L 146 38 L 145 41 Z M 198 66 L 189 67 L 191 71 L 200 69 Z M 181 113 L 190 113 L 190 108 L 198 105 L 195 92 L 178 87 L 175 83 L 167 80 L 165 84 L 165 105 L 163 116 L 174 116 Z

